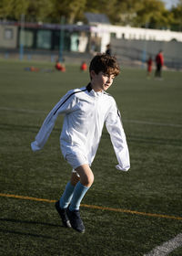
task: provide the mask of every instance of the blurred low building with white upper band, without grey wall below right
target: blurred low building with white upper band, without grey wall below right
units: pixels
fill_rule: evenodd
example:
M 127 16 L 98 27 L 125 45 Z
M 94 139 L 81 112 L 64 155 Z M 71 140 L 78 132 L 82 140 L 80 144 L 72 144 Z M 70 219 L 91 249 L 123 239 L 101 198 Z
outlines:
M 60 29 L 64 29 L 64 50 L 105 52 L 112 38 L 123 40 L 182 42 L 182 33 L 140 27 L 113 26 L 105 15 L 86 13 L 87 25 L 25 23 L 25 48 L 58 50 Z M 18 48 L 21 24 L 0 21 L 0 48 Z

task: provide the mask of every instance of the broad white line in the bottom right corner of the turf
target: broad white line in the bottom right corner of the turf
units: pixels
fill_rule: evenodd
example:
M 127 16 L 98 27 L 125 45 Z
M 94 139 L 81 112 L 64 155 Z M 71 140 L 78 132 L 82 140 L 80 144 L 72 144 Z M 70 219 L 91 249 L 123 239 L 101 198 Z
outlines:
M 168 240 L 162 245 L 157 246 L 154 250 L 148 252 L 144 256 L 166 256 L 171 251 L 176 250 L 178 247 L 182 246 L 182 233 L 178 234 L 172 240 Z

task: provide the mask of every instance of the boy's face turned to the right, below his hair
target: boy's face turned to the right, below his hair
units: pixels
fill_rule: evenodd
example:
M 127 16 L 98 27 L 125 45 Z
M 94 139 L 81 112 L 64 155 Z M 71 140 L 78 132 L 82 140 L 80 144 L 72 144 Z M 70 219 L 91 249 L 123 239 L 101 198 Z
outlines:
M 90 72 L 91 84 L 94 91 L 106 91 L 113 83 L 114 74 L 105 74 L 100 71 L 98 74 L 94 70 Z

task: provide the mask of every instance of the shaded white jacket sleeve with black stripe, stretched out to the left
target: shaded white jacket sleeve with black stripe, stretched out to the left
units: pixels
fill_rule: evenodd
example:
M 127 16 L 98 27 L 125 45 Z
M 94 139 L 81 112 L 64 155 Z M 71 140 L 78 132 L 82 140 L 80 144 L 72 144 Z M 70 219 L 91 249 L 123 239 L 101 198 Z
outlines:
M 31 143 L 33 151 L 41 150 L 44 147 L 50 133 L 52 132 L 55 126 L 58 114 L 71 111 L 71 108 L 73 108 L 74 103 L 73 97 L 71 96 L 72 91 L 68 91 L 66 95 L 56 103 L 56 106 L 52 109 L 52 111 L 48 113 L 39 132 L 35 136 L 35 141 Z

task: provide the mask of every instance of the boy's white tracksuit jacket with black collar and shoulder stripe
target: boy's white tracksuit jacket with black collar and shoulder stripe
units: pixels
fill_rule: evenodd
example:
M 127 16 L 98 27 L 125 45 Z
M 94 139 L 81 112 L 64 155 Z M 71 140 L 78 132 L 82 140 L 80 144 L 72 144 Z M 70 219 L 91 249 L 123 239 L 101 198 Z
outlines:
M 78 153 L 86 156 L 92 164 L 101 138 L 104 123 L 110 134 L 118 165 L 116 169 L 127 171 L 130 167 L 126 135 L 116 107 L 116 101 L 105 91 L 96 92 L 90 84 L 68 91 L 45 118 L 32 150 L 43 148 L 56 123 L 58 114 L 65 114 L 60 135 L 61 150 L 67 154 Z

